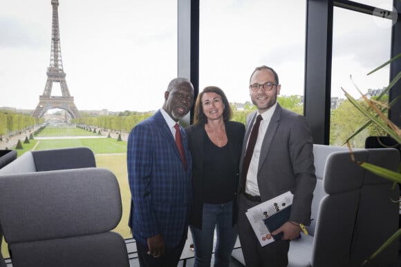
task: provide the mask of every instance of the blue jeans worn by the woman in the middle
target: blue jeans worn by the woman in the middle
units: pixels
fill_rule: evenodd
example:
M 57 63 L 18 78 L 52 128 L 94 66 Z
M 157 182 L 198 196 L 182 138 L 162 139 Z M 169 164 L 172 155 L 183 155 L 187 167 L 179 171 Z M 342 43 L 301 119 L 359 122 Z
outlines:
M 226 204 L 203 204 L 202 229 L 189 227 L 194 240 L 194 267 L 209 267 L 212 259 L 214 229 L 214 267 L 228 267 L 238 233 L 232 226 L 232 201 Z

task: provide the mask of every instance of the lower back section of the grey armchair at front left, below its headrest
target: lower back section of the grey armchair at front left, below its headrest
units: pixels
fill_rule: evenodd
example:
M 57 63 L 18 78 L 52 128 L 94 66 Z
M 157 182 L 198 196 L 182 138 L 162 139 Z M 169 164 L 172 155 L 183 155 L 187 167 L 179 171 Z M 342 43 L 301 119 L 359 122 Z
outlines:
M 10 244 L 14 267 L 127 267 L 124 239 L 114 232 Z

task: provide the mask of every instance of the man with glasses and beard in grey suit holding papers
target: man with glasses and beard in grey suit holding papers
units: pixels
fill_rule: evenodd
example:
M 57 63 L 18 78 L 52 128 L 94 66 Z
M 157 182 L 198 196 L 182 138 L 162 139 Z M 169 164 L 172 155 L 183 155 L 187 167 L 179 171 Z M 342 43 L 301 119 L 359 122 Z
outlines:
M 247 117 L 239 183 L 238 230 L 246 266 L 287 266 L 290 240 L 299 237 L 300 224 L 310 224 L 316 185 L 313 140 L 306 118 L 277 103 L 280 89 L 272 68 L 261 66 L 252 72 L 250 97 L 257 111 Z M 250 138 L 254 127 L 259 127 L 257 137 Z M 256 139 L 253 152 L 250 139 Z M 247 150 L 249 157 L 245 156 Z M 282 232 L 283 237 L 262 247 L 245 212 L 288 190 L 294 194 L 290 218 L 272 232 Z

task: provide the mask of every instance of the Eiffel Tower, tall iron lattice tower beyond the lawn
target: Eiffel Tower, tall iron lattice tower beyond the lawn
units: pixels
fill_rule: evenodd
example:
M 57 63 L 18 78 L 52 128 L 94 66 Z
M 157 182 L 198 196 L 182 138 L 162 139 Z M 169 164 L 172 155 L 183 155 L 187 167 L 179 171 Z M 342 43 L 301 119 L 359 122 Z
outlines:
M 41 118 L 46 111 L 53 108 L 60 108 L 66 110 L 72 118 L 80 117 L 80 112 L 74 103 L 74 97 L 71 97 L 66 83 L 66 73 L 63 70 L 62 63 L 62 50 L 60 46 L 60 32 L 59 32 L 59 14 L 58 14 L 58 0 L 51 0 L 53 6 L 53 22 L 52 22 L 52 46 L 50 52 L 50 67 L 47 68 L 47 81 L 44 88 L 43 95 L 39 96 L 39 103 L 33 117 Z M 52 96 L 53 83 L 60 83 L 62 89 L 62 96 Z

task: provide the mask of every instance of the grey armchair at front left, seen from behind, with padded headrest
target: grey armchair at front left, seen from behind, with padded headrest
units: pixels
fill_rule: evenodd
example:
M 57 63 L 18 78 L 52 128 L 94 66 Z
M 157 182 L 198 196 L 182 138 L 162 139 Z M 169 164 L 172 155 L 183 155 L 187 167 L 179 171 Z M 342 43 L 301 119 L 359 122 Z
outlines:
M 0 179 L 0 218 L 13 267 L 129 266 L 115 175 L 103 168 Z

